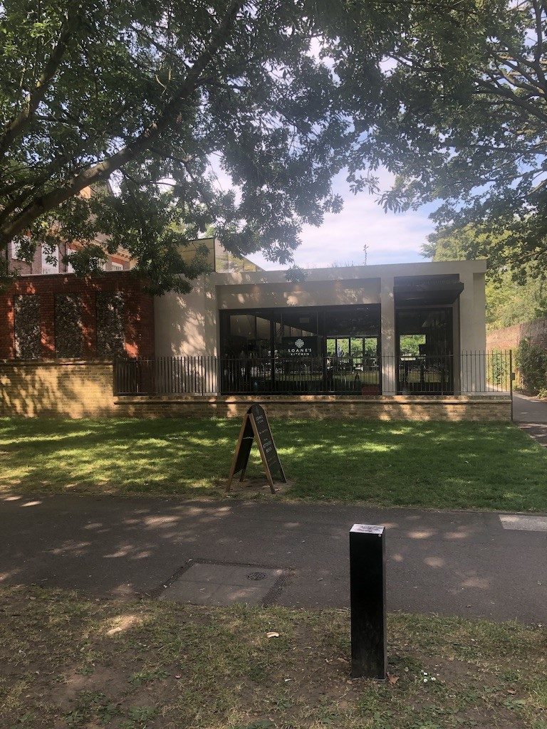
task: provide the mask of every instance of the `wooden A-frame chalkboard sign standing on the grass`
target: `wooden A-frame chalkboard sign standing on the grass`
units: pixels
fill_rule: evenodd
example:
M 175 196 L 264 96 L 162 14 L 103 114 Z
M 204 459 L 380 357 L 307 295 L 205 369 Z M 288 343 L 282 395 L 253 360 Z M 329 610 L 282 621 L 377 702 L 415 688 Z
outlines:
M 240 471 L 241 477 L 239 480 L 242 481 L 244 479 L 251 454 L 252 442 L 255 438 L 257 439 L 258 450 L 260 451 L 266 478 L 270 484 L 271 493 L 276 493 L 274 479 L 282 481 L 282 483 L 287 483 L 281 461 L 279 461 L 279 456 L 277 455 L 276 444 L 274 443 L 274 436 L 271 434 L 268 418 L 264 412 L 264 408 L 255 403 L 255 405 L 251 405 L 249 410 L 247 410 L 243 418 L 243 423 L 241 424 L 226 491 L 230 491 L 233 477 Z

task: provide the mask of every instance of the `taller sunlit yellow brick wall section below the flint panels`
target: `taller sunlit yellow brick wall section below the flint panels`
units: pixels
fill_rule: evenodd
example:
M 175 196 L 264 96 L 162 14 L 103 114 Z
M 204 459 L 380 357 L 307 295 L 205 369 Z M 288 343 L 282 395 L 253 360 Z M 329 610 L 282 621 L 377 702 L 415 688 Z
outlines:
M 112 362 L 0 362 L 0 415 L 114 414 Z

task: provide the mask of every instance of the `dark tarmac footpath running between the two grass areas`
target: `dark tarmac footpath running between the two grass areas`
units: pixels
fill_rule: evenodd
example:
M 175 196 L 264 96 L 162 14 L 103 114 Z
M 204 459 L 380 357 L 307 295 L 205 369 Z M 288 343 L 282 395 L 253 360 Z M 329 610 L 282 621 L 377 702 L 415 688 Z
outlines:
M 547 623 L 547 518 L 264 502 L 0 501 L 0 580 L 154 593 L 188 561 L 290 571 L 276 603 L 346 607 L 348 531 L 387 527 L 391 610 Z

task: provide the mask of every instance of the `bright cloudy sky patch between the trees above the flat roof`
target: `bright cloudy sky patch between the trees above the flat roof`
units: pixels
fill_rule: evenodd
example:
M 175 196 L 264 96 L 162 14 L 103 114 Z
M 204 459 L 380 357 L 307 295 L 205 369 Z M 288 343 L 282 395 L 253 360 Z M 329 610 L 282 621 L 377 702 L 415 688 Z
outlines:
M 385 190 L 390 176 L 387 171 L 381 171 L 379 176 L 380 186 Z M 304 227 L 303 243 L 295 252 L 295 262 L 305 268 L 328 267 L 333 262 L 362 265 L 365 244 L 369 264 L 424 261 L 420 249 L 433 230 L 428 218 L 432 206 L 386 214 L 372 195 L 365 192 L 354 195 L 344 177 L 339 174 L 333 184 L 335 192 L 344 198 L 344 209 L 337 215 L 326 215 L 321 227 Z M 266 269 L 282 268 L 260 254 L 249 258 Z

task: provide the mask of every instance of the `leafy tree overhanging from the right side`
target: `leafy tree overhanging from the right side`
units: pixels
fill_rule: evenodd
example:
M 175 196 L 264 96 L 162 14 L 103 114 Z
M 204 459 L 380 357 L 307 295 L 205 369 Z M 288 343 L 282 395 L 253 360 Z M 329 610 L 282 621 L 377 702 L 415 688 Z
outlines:
M 354 188 L 363 169 L 384 163 L 396 176 L 385 208 L 440 201 L 441 235 L 469 223 L 478 232 L 467 257 L 510 264 L 521 281 L 543 276 L 547 3 L 464 0 L 443 17 L 411 5 L 381 67 L 376 123 L 362 119 Z

